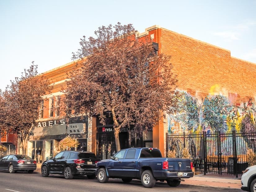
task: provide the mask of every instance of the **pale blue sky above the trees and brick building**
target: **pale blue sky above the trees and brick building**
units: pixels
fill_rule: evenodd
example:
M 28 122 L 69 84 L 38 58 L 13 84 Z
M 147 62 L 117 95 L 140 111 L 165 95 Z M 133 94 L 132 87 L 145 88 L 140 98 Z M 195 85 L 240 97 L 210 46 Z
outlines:
M 152 25 L 231 51 L 256 63 L 256 0 L 1 0 L 0 89 L 31 62 L 38 72 L 71 62 L 80 38 L 102 25 Z

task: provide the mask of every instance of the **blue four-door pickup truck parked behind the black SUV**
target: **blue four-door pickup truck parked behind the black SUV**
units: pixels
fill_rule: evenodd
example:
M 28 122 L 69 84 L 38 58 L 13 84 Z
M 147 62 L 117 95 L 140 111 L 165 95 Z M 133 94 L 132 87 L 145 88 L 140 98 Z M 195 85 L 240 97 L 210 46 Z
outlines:
M 184 178 L 194 176 L 192 167 L 190 159 L 163 158 L 156 148 L 129 148 L 98 162 L 96 174 L 101 183 L 120 178 L 125 183 L 139 179 L 146 188 L 154 187 L 156 181 L 177 187 Z

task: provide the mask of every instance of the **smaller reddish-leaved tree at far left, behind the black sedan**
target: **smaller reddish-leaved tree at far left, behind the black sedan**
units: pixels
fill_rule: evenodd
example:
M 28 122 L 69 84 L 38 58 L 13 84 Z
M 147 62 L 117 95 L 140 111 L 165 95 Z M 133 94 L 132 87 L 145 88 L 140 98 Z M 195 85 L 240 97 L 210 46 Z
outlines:
M 17 134 L 23 154 L 26 154 L 29 136 L 39 117 L 42 96 L 48 94 L 50 90 L 48 80 L 38 75 L 37 65 L 34 65 L 33 61 L 29 69 L 24 69 L 20 78 L 16 77 L 11 81 L 11 85 L 1 92 L 1 133 Z

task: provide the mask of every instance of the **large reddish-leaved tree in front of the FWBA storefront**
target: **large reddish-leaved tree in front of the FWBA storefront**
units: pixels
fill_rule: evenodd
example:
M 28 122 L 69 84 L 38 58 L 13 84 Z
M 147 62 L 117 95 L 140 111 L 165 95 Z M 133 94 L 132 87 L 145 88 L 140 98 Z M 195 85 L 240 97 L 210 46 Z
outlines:
M 152 129 L 173 105 L 177 83 L 171 57 L 156 55 L 152 40 L 136 34 L 131 24 L 118 23 L 99 27 L 95 38 L 83 37 L 73 53 L 83 68 L 70 74 L 65 90 L 75 115 L 97 115 L 104 123 L 105 112 L 111 112 L 117 151 L 120 128 L 139 135 Z

